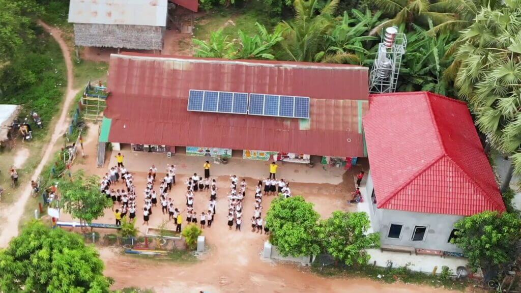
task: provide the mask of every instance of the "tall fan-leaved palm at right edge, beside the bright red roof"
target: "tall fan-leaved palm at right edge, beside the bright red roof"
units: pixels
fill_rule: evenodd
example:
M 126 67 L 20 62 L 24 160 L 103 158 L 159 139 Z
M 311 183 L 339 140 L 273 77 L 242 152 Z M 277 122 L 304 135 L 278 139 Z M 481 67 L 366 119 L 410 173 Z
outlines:
M 521 0 L 506 0 L 499 9 L 482 8 L 458 39 L 455 85 L 476 114 L 488 142 L 511 155 L 512 172 L 521 174 Z

